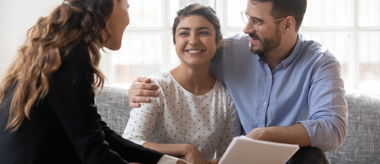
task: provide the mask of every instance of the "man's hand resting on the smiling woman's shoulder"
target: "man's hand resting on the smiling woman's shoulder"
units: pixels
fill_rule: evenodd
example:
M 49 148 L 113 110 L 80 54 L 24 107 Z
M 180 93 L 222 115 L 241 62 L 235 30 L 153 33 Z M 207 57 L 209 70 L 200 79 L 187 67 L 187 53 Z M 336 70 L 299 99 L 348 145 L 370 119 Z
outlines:
M 141 76 L 133 81 L 128 89 L 129 106 L 131 108 L 140 107 L 140 103 L 150 102 L 149 97 L 158 97 L 158 86 L 150 84 L 150 78 Z

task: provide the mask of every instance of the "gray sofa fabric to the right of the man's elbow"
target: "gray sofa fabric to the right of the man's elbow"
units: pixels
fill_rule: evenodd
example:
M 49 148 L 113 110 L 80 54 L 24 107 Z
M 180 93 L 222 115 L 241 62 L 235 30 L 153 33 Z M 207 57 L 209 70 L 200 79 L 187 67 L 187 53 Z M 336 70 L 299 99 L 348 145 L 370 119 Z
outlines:
M 325 152 L 332 164 L 380 163 L 380 95 L 347 91 L 347 137 L 335 151 Z

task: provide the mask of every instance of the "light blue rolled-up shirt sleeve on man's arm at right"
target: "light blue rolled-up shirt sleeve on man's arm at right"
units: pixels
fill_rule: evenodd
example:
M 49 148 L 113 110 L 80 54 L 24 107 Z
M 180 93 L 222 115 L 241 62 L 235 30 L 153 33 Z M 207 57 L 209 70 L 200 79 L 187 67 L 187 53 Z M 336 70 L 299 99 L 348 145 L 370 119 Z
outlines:
M 309 132 L 312 147 L 336 150 L 347 133 L 348 109 L 340 65 L 332 55 L 317 62 L 310 80 L 309 119 L 299 121 Z

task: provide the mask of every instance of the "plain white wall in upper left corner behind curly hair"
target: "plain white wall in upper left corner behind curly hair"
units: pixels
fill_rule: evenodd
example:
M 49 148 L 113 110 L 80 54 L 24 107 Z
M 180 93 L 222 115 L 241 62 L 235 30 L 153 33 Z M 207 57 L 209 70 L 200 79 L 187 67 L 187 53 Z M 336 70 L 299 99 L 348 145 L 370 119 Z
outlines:
M 0 79 L 13 61 L 25 35 L 40 18 L 63 0 L 0 0 Z

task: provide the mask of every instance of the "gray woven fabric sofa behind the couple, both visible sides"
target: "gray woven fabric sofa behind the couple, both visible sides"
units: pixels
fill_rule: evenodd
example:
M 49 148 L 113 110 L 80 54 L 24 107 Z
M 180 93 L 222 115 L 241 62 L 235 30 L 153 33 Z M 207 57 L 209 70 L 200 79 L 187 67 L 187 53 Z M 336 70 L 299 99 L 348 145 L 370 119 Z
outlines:
M 332 164 L 380 164 L 380 94 L 347 91 L 345 96 L 347 137 L 338 150 L 326 155 Z M 104 87 L 96 100 L 102 119 L 122 135 L 131 110 L 127 90 Z

